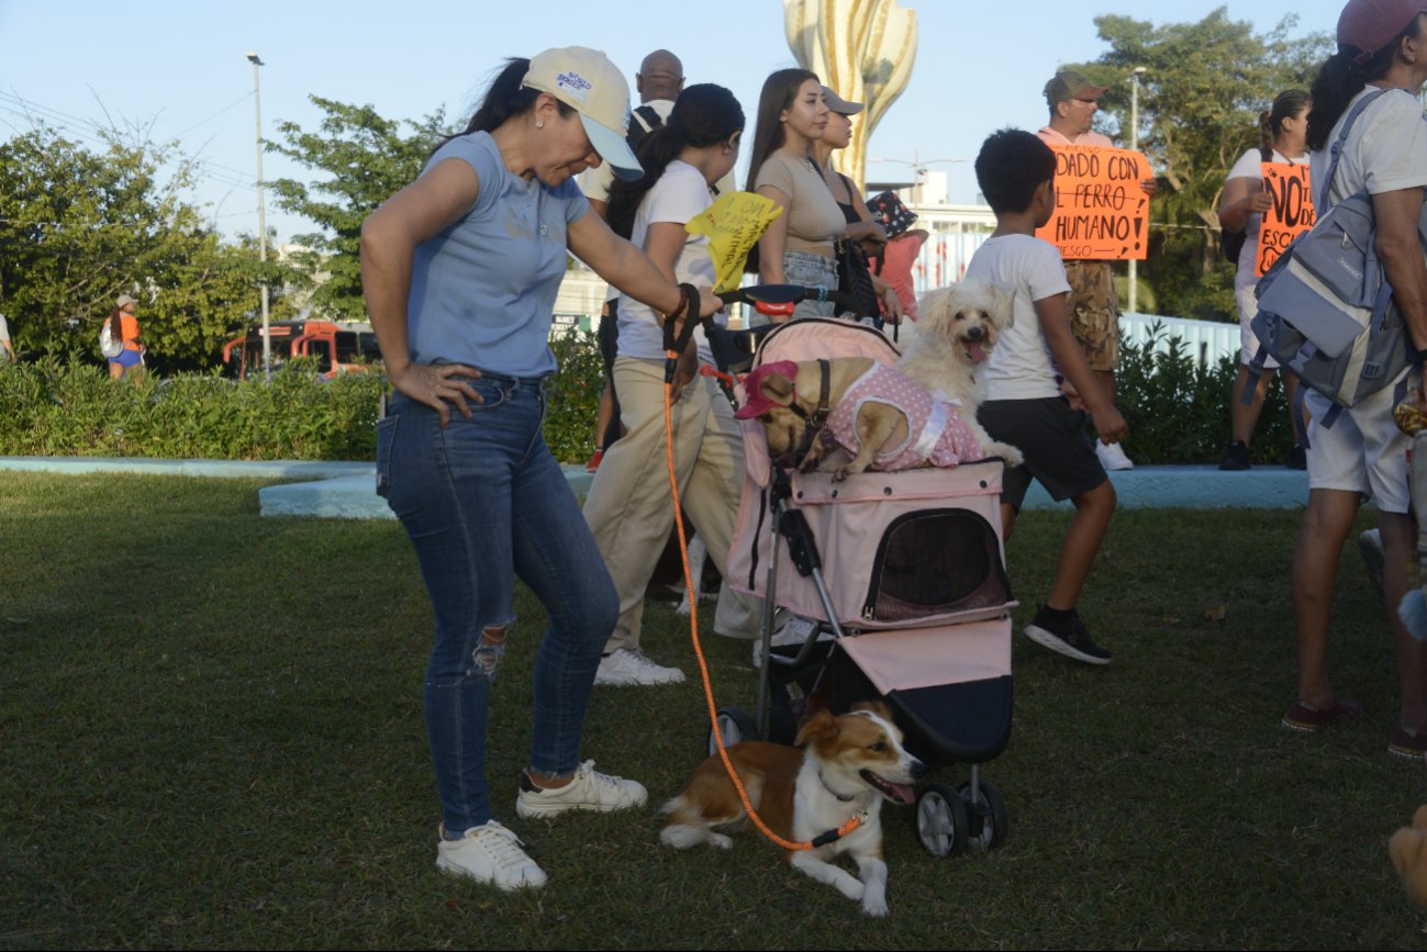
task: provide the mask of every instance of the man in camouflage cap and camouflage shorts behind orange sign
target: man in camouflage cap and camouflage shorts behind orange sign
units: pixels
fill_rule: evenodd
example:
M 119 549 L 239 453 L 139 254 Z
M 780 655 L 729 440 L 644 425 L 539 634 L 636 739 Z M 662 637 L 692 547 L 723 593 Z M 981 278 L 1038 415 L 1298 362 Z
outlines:
M 1106 146 L 1113 147 L 1107 136 L 1093 131 L 1095 114 L 1100 110 L 1100 97 L 1106 86 L 1095 86 L 1075 70 L 1060 70 L 1046 83 L 1046 104 L 1050 107 L 1050 123 L 1037 136 L 1047 146 Z M 1159 186 L 1153 178 L 1143 183 L 1144 191 L 1153 197 Z M 1114 291 L 1114 270 L 1110 261 L 1066 261 L 1066 278 L 1070 281 L 1070 330 L 1075 333 L 1096 380 L 1114 400 L 1114 368 L 1120 365 L 1120 300 Z M 1096 455 L 1106 470 L 1130 470 L 1134 467 L 1117 442 L 1096 442 Z

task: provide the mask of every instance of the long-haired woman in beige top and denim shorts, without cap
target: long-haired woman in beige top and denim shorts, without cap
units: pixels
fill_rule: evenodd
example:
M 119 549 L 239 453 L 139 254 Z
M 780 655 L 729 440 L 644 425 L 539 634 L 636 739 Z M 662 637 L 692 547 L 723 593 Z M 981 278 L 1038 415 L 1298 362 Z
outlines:
M 833 243 L 846 231 L 846 218 L 811 156 L 826 130 L 828 104 L 816 73 L 778 70 L 763 81 L 748 190 L 772 198 L 783 214 L 768 226 L 751 261 L 762 284 L 838 290 Z M 831 301 L 803 301 L 793 318 L 833 313 Z

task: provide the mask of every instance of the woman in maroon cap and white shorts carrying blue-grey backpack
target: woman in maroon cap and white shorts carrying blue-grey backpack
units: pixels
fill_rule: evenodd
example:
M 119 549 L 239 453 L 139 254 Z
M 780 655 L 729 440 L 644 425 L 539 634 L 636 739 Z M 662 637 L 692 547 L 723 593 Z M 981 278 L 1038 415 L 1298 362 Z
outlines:
M 1418 350 L 1427 348 L 1427 265 L 1417 237 L 1427 188 L 1427 123 L 1417 90 L 1427 83 L 1427 16 L 1420 3 L 1349 0 L 1339 19 L 1339 51 L 1313 81 L 1309 151 L 1316 190 L 1323 188 L 1343 121 L 1364 96 L 1378 96 L 1353 123 L 1330 183 L 1330 203 L 1366 191 L 1373 200 L 1376 250 L 1384 277 Z M 1320 210 L 1321 211 L 1321 210 Z M 1406 371 L 1404 371 L 1406 374 Z M 1408 384 L 1420 387 L 1416 373 Z M 1317 731 L 1361 715 L 1363 705 L 1334 695 L 1327 672 L 1329 618 L 1343 544 L 1363 500 L 1373 497 L 1383 540 L 1383 597 L 1397 647 L 1398 725 L 1390 754 L 1421 769 L 1427 751 L 1427 644 L 1416 641 L 1397 617 L 1407 591 L 1407 567 L 1417 541 L 1408 512 L 1407 450 L 1393 422 L 1396 385 L 1346 408 L 1321 425 L 1329 401 L 1307 394 L 1309 505 L 1293 552 L 1293 618 L 1299 655 L 1299 697 L 1284 726 Z M 1421 517 L 1423 514 L 1418 514 Z M 1390 707 L 1390 702 L 1383 702 Z

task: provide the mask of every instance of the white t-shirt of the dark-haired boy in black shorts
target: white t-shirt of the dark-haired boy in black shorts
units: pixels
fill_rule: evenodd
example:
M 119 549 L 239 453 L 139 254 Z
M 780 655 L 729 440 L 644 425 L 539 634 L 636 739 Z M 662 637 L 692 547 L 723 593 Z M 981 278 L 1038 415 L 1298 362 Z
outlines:
M 1070 293 L 1056 245 L 1029 234 L 987 238 L 966 265 L 966 278 L 1015 291 L 1015 320 L 1000 333 L 986 361 L 986 398 L 1039 400 L 1059 395 L 1050 347 L 1036 314 L 1036 301 Z

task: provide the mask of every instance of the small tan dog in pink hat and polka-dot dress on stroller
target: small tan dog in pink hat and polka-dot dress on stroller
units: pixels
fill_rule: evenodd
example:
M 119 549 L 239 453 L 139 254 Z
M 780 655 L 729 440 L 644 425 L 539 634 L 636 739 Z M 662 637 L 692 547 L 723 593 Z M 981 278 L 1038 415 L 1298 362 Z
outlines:
M 826 404 L 819 407 L 823 393 Z M 889 472 L 982 458 L 956 407 L 869 357 L 763 364 L 743 380 L 743 405 L 733 415 L 762 422 L 772 455 L 791 458 L 805 472 L 841 447 L 852 458 L 835 468 L 833 480 L 868 468 Z

